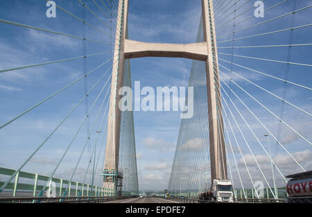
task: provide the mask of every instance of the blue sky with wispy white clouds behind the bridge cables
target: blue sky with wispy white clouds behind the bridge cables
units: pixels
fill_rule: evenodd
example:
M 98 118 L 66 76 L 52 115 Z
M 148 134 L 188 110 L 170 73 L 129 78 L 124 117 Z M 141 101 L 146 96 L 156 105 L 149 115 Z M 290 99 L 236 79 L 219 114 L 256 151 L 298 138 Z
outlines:
M 45 28 L 60 33 L 67 33 L 70 35 L 83 35 L 83 25 L 78 19 L 71 17 L 64 11 L 57 9 L 56 18 L 46 17 L 46 1 L 5 1 L 0 8 L 0 19 L 14 21 L 20 24 L 27 24 L 38 28 Z M 100 3 L 100 1 L 98 1 Z M 252 6 L 252 2 L 248 6 Z M 279 1 L 270 1 L 266 3 L 265 7 L 275 5 Z M 249 19 L 241 26 L 237 25 L 236 29 L 251 26 L 265 21 L 267 19 L 283 15 L 286 12 L 293 10 L 292 2 L 288 1 L 283 5 L 268 10 L 264 18 Z M 311 5 L 311 1 L 297 1 L 297 8 Z M 70 0 L 57 0 L 55 1 L 59 6 L 72 12 L 78 17 L 83 17 L 83 10 L 78 1 Z M 216 3 L 218 5 L 218 3 Z M 92 1 L 87 1 L 89 6 L 99 17 L 105 21 L 105 16 L 101 14 Z M 244 8 L 248 8 L 245 6 Z M 241 11 L 244 11 L 241 8 Z M 229 12 L 225 12 L 224 16 Z M 240 19 L 247 18 L 252 14 L 249 12 L 244 14 Z M 295 18 L 295 26 L 311 23 L 309 19 L 311 8 L 298 12 Z M 191 43 L 196 42 L 198 33 L 198 24 L 200 21 L 201 6 L 200 1 L 194 0 L 132 0 L 129 6 L 128 29 L 129 39 L 139 40 L 142 42 L 166 42 L 166 43 Z M 232 14 L 233 16 L 234 14 Z M 222 10 L 218 17 L 222 17 Z M 230 18 L 230 16 L 229 16 Z M 226 22 L 227 19 L 220 21 L 217 25 L 217 41 L 232 39 L 232 20 Z M 290 16 L 270 22 L 270 24 L 261 25 L 248 30 L 240 31 L 234 35 L 235 38 L 243 37 L 245 35 L 255 35 L 258 33 L 266 33 L 275 31 L 277 29 L 289 28 Z M 103 51 L 110 51 L 111 42 L 114 42 L 114 34 L 111 34 L 110 24 L 97 19 L 90 12 L 86 12 L 86 21 L 96 27 L 101 28 L 105 33 L 97 31 L 95 28 L 86 26 L 86 37 L 92 40 L 107 42 L 107 44 L 98 44 L 94 42 L 86 42 L 87 54 L 93 54 Z M 221 26 L 224 25 L 224 26 Z M 106 26 L 108 25 L 108 26 Z M 227 26 L 228 25 L 228 26 Z M 20 67 L 28 64 L 36 64 L 40 62 L 47 62 L 53 60 L 61 60 L 63 58 L 73 58 L 83 55 L 83 41 L 72 37 L 64 37 L 51 33 L 44 33 L 42 31 L 35 31 L 29 28 L 22 28 L 19 26 L 12 26 L 10 24 L 0 23 L 0 70 L 10 69 L 13 67 Z M 114 28 L 114 27 L 112 27 Z M 227 28 L 224 33 L 218 33 L 223 28 Z M 311 27 L 304 28 L 300 31 L 294 31 L 293 44 L 311 43 Z M 218 38 L 218 35 L 230 35 Z M 112 35 L 112 37 L 110 36 Z M 257 39 L 237 40 L 234 46 L 246 45 L 268 45 L 268 44 L 288 44 L 289 33 L 278 33 L 276 35 L 267 35 Z M 222 44 L 222 45 L 221 45 Z M 218 46 L 232 46 L 232 42 L 220 43 Z M 232 49 L 219 49 L 219 53 L 231 53 Z M 236 55 L 247 55 L 252 57 L 267 58 L 274 60 L 286 61 L 287 48 L 275 49 L 234 49 Z M 87 58 L 87 69 L 91 71 L 99 64 L 110 60 L 111 53 L 103 55 L 96 55 Z M 219 58 L 231 61 L 231 57 L 224 54 L 219 54 Z M 236 64 L 241 64 L 245 67 L 250 67 L 255 70 L 266 72 L 270 75 L 284 78 L 285 64 L 276 64 L 272 62 L 263 62 L 259 60 L 246 60 L 243 58 L 234 57 L 233 61 Z M 292 49 L 291 62 L 302 62 L 312 64 L 311 62 L 311 46 L 295 47 Z M 219 63 L 229 69 L 230 64 L 219 60 Z M 101 87 L 105 81 L 109 80 L 110 64 L 108 62 L 100 69 L 90 73 L 87 77 L 87 87 L 90 89 L 99 78 L 107 72 L 101 80 L 101 85 L 96 86 L 90 94 L 88 94 L 89 107 L 96 99 Z M 191 71 L 191 60 L 184 60 L 180 58 L 140 58 L 130 60 L 132 84 L 135 80 L 141 82 L 141 86 L 150 87 L 185 87 L 189 81 Z M 295 83 L 311 87 L 311 67 L 290 66 L 288 80 Z M 237 78 L 228 71 L 220 67 L 220 71 L 227 73 L 227 76 L 233 76 L 233 80 L 248 89 L 248 92 L 257 98 L 261 98 L 263 104 L 270 107 L 272 112 L 279 114 L 281 101 L 269 94 L 263 94 L 263 91 L 246 83 L 241 78 Z M 284 83 L 270 78 L 259 75 L 258 73 L 251 73 L 248 70 L 234 66 L 233 71 L 241 73 L 245 78 L 268 89 L 270 92 L 282 96 Z M 83 60 L 71 60 L 67 62 L 60 62 L 57 64 L 49 64 L 40 67 L 33 67 L 28 69 L 21 69 L 15 71 L 7 71 L 0 73 L 0 124 L 6 123 L 17 114 L 24 112 L 28 107 L 35 105 L 42 99 L 46 98 L 58 91 L 65 85 L 71 83 L 73 80 L 83 76 Z M 221 75 L 225 79 L 225 76 Z M 243 101 L 245 101 L 254 114 L 261 117 L 263 123 L 266 123 L 273 134 L 277 134 L 278 121 L 273 119 L 267 111 L 263 110 L 259 104 L 252 101 L 248 96 L 244 95 L 237 89 L 233 83 L 231 87 L 241 94 Z M 103 90 L 105 95 L 110 90 L 109 85 Z M 28 155 L 31 155 L 33 150 L 50 134 L 50 132 L 62 121 L 64 116 L 71 111 L 73 106 L 78 103 L 80 98 L 85 94 L 85 80 L 82 79 L 78 83 L 72 85 L 64 92 L 51 98 L 46 103 L 43 103 L 35 110 L 28 112 L 25 116 L 17 119 L 5 128 L 0 129 L 0 166 L 7 168 L 17 168 Z M 304 110 L 311 113 L 311 91 L 301 89 L 288 85 L 287 100 L 295 105 L 304 108 Z M 101 96 L 102 97 L 102 96 Z M 233 99 L 234 96 L 232 95 Z M 94 105 L 94 109 L 89 115 L 89 125 L 96 121 L 96 112 L 101 108 L 101 99 Z M 235 103 L 239 103 L 237 99 Z M 106 104 L 104 104 L 106 105 Z M 237 104 L 241 112 L 250 120 L 252 127 L 257 129 L 257 133 L 265 134 L 261 126 L 254 120 L 248 111 L 242 106 Z M 231 107 L 234 111 L 234 107 Z M 105 110 L 103 107 L 102 112 Z M 31 173 L 39 172 L 44 175 L 49 175 L 53 170 L 55 164 L 60 159 L 61 153 L 71 142 L 73 134 L 75 134 L 78 126 L 82 123 L 85 117 L 85 101 L 78 105 L 77 109 L 69 116 L 69 119 L 62 124 L 55 134 L 49 139 L 40 151 L 26 164 L 22 171 Z M 102 114 L 102 113 L 101 113 Z M 234 114 L 238 115 L 234 112 Z M 101 119 L 101 118 L 100 118 Z M 290 123 L 291 126 L 300 132 L 306 139 L 311 141 L 311 116 L 306 116 L 295 110 L 289 105 L 285 105 L 284 120 Z M 240 120 L 241 121 L 241 120 Z M 166 189 L 173 164 L 173 157 L 175 154 L 175 146 L 177 144 L 177 136 L 180 129 L 180 112 L 134 112 L 135 122 L 135 141 L 137 149 L 137 168 L 139 176 L 140 189 Z M 101 121 L 96 122 L 95 129 L 101 128 Z M 240 122 L 242 123 L 242 122 Z M 105 125 L 105 123 L 104 123 Z M 103 128 L 104 129 L 104 128 Z M 78 137 L 73 141 L 73 145 L 69 149 L 69 153 L 64 157 L 60 168 L 55 173 L 55 177 L 68 177 L 73 167 L 76 164 L 77 158 L 82 150 L 86 139 L 86 127 L 83 126 Z M 235 129 L 234 129 L 235 130 Z M 247 132 L 247 128 L 243 128 Z M 236 129 L 237 131 L 237 129 Z M 237 131 L 238 132 L 238 131 Z M 288 150 L 294 153 L 297 158 L 302 157 L 301 161 L 306 168 L 311 170 L 311 146 L 304 143 L 298 138 L 291 130 L 285 126 L 282 128 L 282 140 L 286 144 Z M 88 157 L 92 153 L 92 144 L 96 141 L 96 132 L 87 145 L 83 159 L 78 166 L 78 171 L 74 179 L 82 180 L 85 175 L 85 167 L 88 164 Z M 248 134 L 248 139 L 250 139 Z M 98 147 L 103 144 L 104 137 L 100 137 Z M 243 144 L 243 139 L 238 138 L 240 143 Z M 232 138 L 233 141 L 233 138 Z M 266 140 L 261 137 L 261 141 Z M 252 141 L 254 142 L 254 141 Z M 271 141 L 276 148 L 276 144 Z M 104 150 L 103 148 L 102 150 Z M 248 148 L 244 147 L 244 155 L 246 159 L 250 159 Z M 277 156 L 280 159 L 286 159 L 287 155 L 278 149 Z M 263 159 L 263 165 L 268 166 L 268 162 L 263 158 L 261 148 L 256 147 L 255 152 L 259 159 Z M 302 154 L 304 153 L 304 154 Z M 101 168 L 101 156 L 98 163 L 98 169 Z M 238 155 L 239 156 L 239 155 Z M 265 156 L 264 156 L 265 157 Z M 238 157 L 240 166 L 243 166 L 242 159 Z M 281 160 L 282 164 L 282 160 Z M 250 166 L 254 166 L 254 162 L 250 159 Z M 289 163 L 284 168 L 284 173 L 291 171 L 298 171 L 291 169 L 295 167 Z M 300 170 L 299 170 L 300 171 Z M 4 180 L 3 177 L 0 177 Z M 89 179 L 89 176 L 87 177 Z

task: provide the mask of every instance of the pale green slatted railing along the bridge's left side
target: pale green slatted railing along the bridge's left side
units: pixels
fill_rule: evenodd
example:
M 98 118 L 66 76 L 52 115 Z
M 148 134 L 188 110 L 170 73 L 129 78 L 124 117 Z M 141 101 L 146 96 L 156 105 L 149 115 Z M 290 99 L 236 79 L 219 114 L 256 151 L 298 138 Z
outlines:
M 15 170 L 10 168 L 0 167 L 0 175 L 10 176 L 15 173 Z M 6 178 L 6 177 L 4 177 Z M 23 182 L 21 182 L 21 178 L 23 178 Z M 37 193 L 42 191 L 44 187 L 46 187 L 46 183 L 49 181 L 49 177 L 45 175 L 40 175 L 37 173 L 27 173 L 20 171 L 15 176 L 15 180 L 10 182 L 5 189 L 0 193 L 0 197 L 20 197 L 20 196 L 37 196 Z M 40 184 L 40 182 L 45 183 L 44 185 Z M 62 197 L 64 192 L 66 192 L 66 196 L 76 196 L 76 197 L 84 197 L 84 196 L 105 196 L 106 192 L 103 186 L 92 186 L 91 184 L 83 184 L 80 182 L 71 182 L 68 180 L 63 180 L 59 178 L 52 178 L 51 182 L 55 183 L 55 186 L 52 186 L 52 192 L 55 193 L 56 197 Z M 0 186 L 2 186 L 4 182 L 0 181 Z M 69 188 L 67 189 L 67 186 Z M 92 191 L 93 190 L 93 191 Z M 49 191 L 49 189 L 48 189 Z

